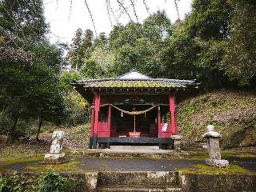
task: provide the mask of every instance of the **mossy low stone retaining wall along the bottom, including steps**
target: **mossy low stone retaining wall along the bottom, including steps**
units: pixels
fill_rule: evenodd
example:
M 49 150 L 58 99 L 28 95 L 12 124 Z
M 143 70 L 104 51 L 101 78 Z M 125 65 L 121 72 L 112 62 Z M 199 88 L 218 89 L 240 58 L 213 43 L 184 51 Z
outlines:
M 6 173 L 1 174 L 1 176 L 8 179 L 15 175 L 15 182 L 8 182 L 9 187 L 13 189 L 20 184 L 19 189 L 21 191 L 32 192 L 38 190 L 38 182 L 45 174 L 47 173 Z M 162 190 L 154 191 L 164 192 L 255 191 L 256 189 L 255 174 L 182 174 L 182 172 L 178 171 L 94 171 L 86 173 L 62 172 L 61 175 L 69 180 L 68 189 L 63 192 L 104 191 L 104 188 L 109 189 L 118 184 L 126 186 L 128 189 L 129 186 L 140 186 L 140 188 L 144 189 L 140 191 L 153 191 L 149 186 L 152 188 L 159 186 Z M 167 190 L 167 187 L 172 190 Z

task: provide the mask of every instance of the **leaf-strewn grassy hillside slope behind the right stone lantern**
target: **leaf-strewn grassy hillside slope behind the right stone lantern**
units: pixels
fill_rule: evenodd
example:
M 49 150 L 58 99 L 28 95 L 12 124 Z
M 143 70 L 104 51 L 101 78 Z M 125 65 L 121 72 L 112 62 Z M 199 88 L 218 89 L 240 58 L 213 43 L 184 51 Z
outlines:
M 202 146 L 209 124 L 222 134 L 223 147 L 256 146 L 256 93 L 212 91 L 187 98 L 177 112 L 184 146 Z

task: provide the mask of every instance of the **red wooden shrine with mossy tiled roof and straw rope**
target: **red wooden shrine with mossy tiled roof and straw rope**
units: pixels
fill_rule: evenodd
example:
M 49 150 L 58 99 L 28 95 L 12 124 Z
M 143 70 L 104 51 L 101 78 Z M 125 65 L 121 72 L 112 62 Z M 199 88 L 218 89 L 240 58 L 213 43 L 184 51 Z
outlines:
M 171 147 L 178 134 L 175 96 L 197 84 L 190 80 L 150 78 L 131 71 L 118 78 L 74 82 L 90 102 L 90 148 L 97 143 Z

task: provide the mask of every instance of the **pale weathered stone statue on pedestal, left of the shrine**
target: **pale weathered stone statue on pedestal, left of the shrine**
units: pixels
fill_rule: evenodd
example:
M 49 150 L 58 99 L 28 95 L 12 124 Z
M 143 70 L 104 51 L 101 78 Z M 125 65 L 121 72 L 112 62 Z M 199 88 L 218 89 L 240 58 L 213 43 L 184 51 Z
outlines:
M 63 161 L 65 156 L 65 154 L 61 153 L 63 138 L 63 131 L 54 131 L 52 135 L 52 144 L 50 146 L 50 154 L 45 155 L 45 162 L 58 163 Z

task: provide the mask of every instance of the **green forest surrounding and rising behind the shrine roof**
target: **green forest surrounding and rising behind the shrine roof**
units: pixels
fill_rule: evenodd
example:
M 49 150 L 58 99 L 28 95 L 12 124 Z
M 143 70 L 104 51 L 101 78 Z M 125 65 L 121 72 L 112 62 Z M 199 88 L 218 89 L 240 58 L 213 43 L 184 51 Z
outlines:
M 0 2 L 0 134 L 11 140 L 46 124 L 88 122 L 89 106 L 70 86 L 82 78 L 136 69 L 153 78 L 196 78 L 201 92 L 255 90 L 253 0 L 194 0 L 175 23 L 159 10 L 109 35 L 78 29 L 70 45 L 50 43 L 49 29 L 42 0 Z

